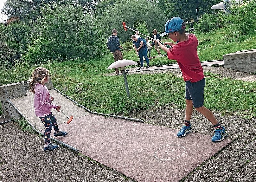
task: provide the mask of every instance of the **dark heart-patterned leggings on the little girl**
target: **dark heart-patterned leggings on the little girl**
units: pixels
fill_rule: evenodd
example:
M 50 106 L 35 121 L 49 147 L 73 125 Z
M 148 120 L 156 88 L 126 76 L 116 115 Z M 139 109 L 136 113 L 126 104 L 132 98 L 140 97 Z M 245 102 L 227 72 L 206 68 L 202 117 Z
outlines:
M 50 136 L 51 136 L 51 130 L 52 128 L 54 131 L 59 131 L 59 127 L 57 125 L 57 119 L 54 117 L 53 113 L 44 116 L 44 117 L 39 117 L 42 121 L 42 123 L 45 126 L 45 131 L 44 131 L 44 141 L 45 143 L 50 143 Z

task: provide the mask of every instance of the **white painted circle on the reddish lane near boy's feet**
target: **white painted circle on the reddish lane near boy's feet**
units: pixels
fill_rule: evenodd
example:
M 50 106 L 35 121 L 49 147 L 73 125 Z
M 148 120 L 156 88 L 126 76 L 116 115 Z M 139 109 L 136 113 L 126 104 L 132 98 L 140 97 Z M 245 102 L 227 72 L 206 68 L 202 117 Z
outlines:
M 155 157 L 159 160 L 172 160 L 181 157 L 185 148 L 181 145 L 166 145 L 155 151 Z

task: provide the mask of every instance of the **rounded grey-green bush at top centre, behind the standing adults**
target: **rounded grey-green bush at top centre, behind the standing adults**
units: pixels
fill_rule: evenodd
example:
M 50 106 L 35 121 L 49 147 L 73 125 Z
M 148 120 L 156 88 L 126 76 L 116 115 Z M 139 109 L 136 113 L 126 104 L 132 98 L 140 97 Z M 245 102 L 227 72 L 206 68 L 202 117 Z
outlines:
M 126 26 L 131 27 L 136 20 L 141 19 L 147 24 L 147 29 L 151 32 L 157 29 L 159 32 L 164 31 L 164 25 L 167 17 L 159 7 L 154 6 L 147 0 L 123 0 L 120 3 L 115 3 L 113 6 L 107 6 L 101 16 L 100 23 L 104 27 L 107 35 L 111 34 L 111 30 L 116 28 L 118 30 L 118 37 L 121 41 L 130 39 L 133 32 L 128 29 L 125 31 L 122 22 L 126 22 Z

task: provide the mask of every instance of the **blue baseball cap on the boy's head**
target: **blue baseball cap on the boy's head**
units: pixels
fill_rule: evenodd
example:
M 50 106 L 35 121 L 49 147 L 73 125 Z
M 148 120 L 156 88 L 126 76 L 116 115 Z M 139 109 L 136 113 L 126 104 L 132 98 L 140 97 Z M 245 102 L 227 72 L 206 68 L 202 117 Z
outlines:
M 165 32 L 163 32 L 160 36 L 165 36 L 170 32 L 175 32 L 175 31 L 179 31 L 181 29 L 186 28 L 186 26 L 182 26 L 183 22 L 184 22 L 183 19 L 181 19 L 180 17 L 173 17 L 169 19 L 165 23 Z

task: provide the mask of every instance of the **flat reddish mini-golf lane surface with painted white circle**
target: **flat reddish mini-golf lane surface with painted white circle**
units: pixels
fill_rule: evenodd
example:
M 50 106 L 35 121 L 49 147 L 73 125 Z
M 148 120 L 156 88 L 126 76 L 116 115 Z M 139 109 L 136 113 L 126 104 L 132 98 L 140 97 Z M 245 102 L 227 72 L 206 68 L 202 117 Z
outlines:
M 56 139 L 140 182 L 178 182 L 231 143 L 193 132 L 177 138 L 177 129 L 93 114 L 59 127 L 68 136 Z

